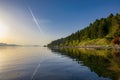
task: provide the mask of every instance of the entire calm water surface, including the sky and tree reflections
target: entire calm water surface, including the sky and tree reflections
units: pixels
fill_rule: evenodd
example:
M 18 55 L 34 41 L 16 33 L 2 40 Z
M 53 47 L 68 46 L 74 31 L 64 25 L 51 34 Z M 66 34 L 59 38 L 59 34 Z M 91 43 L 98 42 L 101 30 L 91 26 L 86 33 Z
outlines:
M 120 52 L 0 47 L 0 80 L 120 80 Z

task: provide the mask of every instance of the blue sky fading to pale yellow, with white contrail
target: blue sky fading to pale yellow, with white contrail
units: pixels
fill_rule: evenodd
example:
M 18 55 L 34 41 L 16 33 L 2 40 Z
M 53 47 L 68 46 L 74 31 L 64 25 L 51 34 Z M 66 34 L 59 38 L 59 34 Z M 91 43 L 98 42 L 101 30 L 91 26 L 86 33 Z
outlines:
M 0 0 L 0 42 L 46 45 L 87 27 L 120 0 Z

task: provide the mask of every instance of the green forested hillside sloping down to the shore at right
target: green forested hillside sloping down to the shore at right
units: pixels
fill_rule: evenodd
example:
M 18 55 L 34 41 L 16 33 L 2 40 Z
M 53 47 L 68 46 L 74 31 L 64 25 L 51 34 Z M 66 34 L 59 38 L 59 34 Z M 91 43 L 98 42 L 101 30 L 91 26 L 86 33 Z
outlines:
M 110 14 L 107 18 L 96 19 L 84 29 L 52 41 L 48 46 L 109 45 L 114 36 L 120 36 L 120 14 Z

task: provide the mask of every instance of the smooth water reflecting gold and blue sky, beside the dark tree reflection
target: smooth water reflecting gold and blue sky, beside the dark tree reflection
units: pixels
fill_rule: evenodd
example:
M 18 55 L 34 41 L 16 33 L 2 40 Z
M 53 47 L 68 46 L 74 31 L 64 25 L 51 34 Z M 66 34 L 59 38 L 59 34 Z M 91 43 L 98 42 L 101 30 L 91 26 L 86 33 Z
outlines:
M 0 48 L 0 80 L 110 80 L 43 47 Z

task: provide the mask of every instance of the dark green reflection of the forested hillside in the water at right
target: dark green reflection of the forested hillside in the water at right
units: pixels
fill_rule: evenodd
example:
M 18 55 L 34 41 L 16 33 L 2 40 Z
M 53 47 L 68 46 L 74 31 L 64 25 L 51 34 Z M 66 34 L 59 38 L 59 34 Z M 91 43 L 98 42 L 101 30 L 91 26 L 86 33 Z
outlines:
M 109 77 L 112 80 L 120 80 L 120 50 L 96 50 L 96 49 L 77 49 L 61 48 L 52 49 L 59 54 L 76 60 L 78 64 L 88 66 L 99 76 Z

